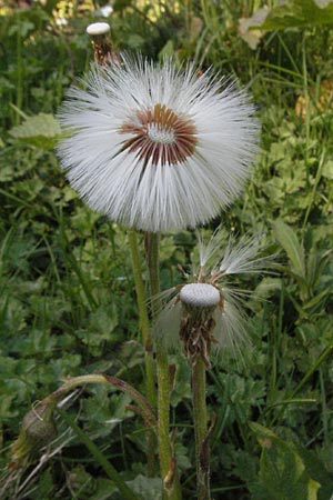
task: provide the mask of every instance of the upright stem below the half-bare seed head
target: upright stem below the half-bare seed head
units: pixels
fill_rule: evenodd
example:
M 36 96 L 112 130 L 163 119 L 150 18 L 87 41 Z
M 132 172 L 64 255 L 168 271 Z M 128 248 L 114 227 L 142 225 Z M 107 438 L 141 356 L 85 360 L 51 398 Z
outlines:
M 205 403 L 205 364 L 201 356 L 192 364 L 192 398 L 198 500 L 211 500 L 210 448 Z

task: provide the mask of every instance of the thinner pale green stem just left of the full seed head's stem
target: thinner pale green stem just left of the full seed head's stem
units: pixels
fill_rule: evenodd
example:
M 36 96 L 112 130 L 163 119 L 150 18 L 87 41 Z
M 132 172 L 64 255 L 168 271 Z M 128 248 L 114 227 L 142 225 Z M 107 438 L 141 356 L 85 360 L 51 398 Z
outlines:
M 149 327 L 149 317 L 145 302 L 144 284 L 142 279 L 140 256 L 138 250 L 138 239 L 134 230 L 129 231 L 129 242 L 132 256 L 133 276 L 137 291 L 137 302 L 139 309 L 140 328 L 142 333 L 142 343 L 144 348 L 144 363 L 145 363 L 145 396 L 148 400 L 154 406 L 155 402 L 155 384 L 154 384 L 154 360 L 152 353 L 152 339 Z M 148 434 L 148 476 L 154 476 L 154 450 L 155 438 L 153 431 Z

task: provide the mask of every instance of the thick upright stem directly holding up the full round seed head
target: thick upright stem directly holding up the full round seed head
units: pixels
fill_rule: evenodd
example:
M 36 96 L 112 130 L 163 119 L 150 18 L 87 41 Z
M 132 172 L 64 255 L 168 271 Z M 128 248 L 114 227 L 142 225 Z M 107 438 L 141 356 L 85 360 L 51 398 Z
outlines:
M 150 276 L 150 289 L 152 297 L 160 292 L 160 269 L 159 269 L 159 234 L 148 233 L 148 268 Z M 159 301 L 152 302 L 152 319 L 157 319 L 159 313 Z M 169 437 L 170 427 L 170 373 L 168 352 L 161 341 L 157 342 L 157 366 L 158 366 L 158 439 L 160 468 L 163 480 L 163 499 L 180 500 L 181 491 L 178 474 L 174 470 L 173 457 L 171 454 L 171 443 Z

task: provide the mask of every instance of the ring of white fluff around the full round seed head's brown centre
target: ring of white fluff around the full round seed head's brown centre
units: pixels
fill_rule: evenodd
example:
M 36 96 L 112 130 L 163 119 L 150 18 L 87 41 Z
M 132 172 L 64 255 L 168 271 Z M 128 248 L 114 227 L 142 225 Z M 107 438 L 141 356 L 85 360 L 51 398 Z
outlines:
M 182 162 L 153 164 L 122 150 L 131 137 L 121 127 L 158 103 L 195 126 L 195 149 Z M 93 67 L 85 90 L 69 91 L 58 153 L 71 186 L 111 220 L 147 231 L 194 228 L 229 206 L 249 177 L 253 112 L 243 90 L 210 72 L 122 57 L 121 66 Z

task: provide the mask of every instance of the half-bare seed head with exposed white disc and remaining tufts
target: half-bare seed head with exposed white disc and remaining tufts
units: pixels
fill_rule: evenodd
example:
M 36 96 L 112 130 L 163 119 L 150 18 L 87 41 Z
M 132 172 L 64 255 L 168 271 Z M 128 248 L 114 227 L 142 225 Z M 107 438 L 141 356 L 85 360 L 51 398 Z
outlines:
M 168 324 L 174 314 L 178 318 L 174 324 L 180 326 L 179 339 L 190 363 L 201 357 L 210 368 L 213 352 L 226 350 L 239 360 L 243 350 L 251 346 L 244 308 L 252 292 L 233 284 L 233 274 L 262 272 L 274 256 L 260 257 L 264 248 L 260 236 L 244 234 L 239 239 L 233 236 L 228 240 L 220 229 L 208 242 L 200 234 L 198 239 L 199 267 L 188 276 L 192 282 L 164 292 L 167 304 L 163 311 L 168 314 L 164 334 L 168 336 Z M 173 347 L 176 341 L 173 333 Z

